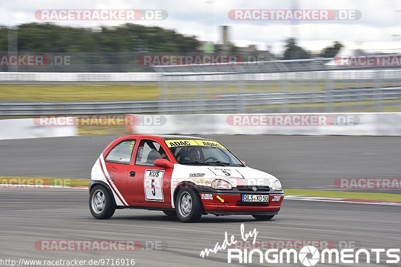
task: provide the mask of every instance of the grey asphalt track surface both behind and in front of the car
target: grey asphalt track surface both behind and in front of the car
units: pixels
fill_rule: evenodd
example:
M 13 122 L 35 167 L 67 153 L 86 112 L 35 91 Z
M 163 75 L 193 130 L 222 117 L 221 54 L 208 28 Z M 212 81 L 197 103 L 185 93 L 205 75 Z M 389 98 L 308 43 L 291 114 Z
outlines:
M 0 175 L 89 177 L 93 161 L 114 137 L 3 140 Z M 399 177 L 401 173 L 401 139 L 396 137 L 213 138 L 250 166 L 278 176 L 286 187 L 333 188 L 338 177 Z M 222 243 L 225 231 L 241 240 L 241 223 L 246 231 L 258 230 L 257 240 L 349 241 L 357 248 L 399 248 L 401 240 L 400 207 L 373 204 L 287 199 L 270 221 L 207 215 L 197 223 L 182 223 L 161 211 L 135 209 L 117 210 L 109 220 L 96 220 L 89 212 L 86 189 L 25 188 L 1 189 L 0 212 L 0 258 L 15 260 L 134 258 L 138 266 L 229 265 L 226 250 L 205 258 L 199 254 Z M 137 240 L 142 246 L 137 251 L 42 251 L 35 247 L 39 240 Z M 145 244 L 150 248 L 142 249 Z M 158 249 L 151 249 L 154 244 Z

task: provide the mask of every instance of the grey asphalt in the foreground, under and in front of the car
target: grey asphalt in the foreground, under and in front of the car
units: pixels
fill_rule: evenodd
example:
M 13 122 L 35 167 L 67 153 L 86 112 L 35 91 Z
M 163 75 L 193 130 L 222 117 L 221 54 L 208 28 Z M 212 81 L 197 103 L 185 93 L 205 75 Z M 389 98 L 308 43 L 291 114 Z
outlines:
M 207 215 L 197 223 L 182 223 L 161 211 L 134 209 L 117 210 L 109 220 L 96 220 L 89 213 L 85 189 L 4 189 L 0 193 L 0 203 L 0 258 L 16 260 L 134 258 L 138 266 L 229 265 L 227 251 L 205 258 L 199 254 L 202 249 L 223 242 L 225 231 L 241 240 L 241 223 L 246 232 L 253 228 L 258 230 L 257 240 L 334 243 L 343 240 L 355 241 L 357 248 L 397 248 L 401 240 L 401 213 L 397 206 L 285 200 L 280 214 L 270 221 L 260 222 L 245 215 Z M 147 244 L 156 241 L 158 249 L 41 251 L 35 248 L 38 240 L 59 239 L 138 240 L 142 245 L 146 241 Z M 372 265 L 375 264 L 369 264 Z

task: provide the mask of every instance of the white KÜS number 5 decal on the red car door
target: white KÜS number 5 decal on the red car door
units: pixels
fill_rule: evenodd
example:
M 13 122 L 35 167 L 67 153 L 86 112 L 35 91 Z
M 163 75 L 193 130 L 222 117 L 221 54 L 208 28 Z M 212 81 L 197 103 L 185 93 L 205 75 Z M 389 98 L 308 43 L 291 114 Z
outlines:
M 164 170 L 159 169 L 147 169 L 145 170 L 145 176 L 143 185 L 145 189 L 146 200 L 163 201 L 163 174 Z

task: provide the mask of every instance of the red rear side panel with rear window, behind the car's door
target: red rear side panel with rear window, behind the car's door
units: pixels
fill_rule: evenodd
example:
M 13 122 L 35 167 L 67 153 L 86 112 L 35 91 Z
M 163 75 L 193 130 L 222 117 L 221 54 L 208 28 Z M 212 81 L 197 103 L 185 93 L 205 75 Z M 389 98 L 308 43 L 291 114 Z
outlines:
M 125 202 L 129 193 L 127 189 L 127 175 L 131 169 L 130 164 L 135 143 L 135 139 L 123 140 L 111 148 L 104 158 L 107 172 Z

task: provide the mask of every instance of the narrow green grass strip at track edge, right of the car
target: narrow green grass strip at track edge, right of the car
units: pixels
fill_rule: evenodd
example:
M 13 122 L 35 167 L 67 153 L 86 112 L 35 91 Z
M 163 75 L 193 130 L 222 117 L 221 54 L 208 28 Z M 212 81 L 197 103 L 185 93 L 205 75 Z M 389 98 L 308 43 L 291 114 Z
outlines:
M 287 195 L 302 195 L 302 196 L 321 196 L 321 197 L 336 197 L 360 200 L 383 200 L 401 202 L 401 194 L 392 193 L 370 193 L 370 192 L 350 192 L 350 191 L 325 191 L 325 190 L 308 190 L 288 188 L 284 189 Z

